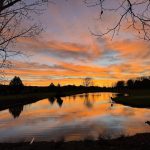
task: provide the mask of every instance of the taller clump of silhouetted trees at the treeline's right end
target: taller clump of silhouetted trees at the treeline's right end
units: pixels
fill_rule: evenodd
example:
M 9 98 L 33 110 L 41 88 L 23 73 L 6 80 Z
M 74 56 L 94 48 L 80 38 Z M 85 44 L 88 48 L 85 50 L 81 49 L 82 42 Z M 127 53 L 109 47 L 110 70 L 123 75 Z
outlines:
M 115 85 L 117 89 L 150 89 L 150 76 L 118 81 Z

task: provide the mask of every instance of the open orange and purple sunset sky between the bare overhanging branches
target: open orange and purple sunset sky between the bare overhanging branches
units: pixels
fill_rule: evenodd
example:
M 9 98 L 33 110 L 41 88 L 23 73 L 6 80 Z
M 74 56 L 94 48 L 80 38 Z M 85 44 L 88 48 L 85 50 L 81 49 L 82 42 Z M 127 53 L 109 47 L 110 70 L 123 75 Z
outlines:
M 113 7 L 113 3 L 109 4 Z M 20 55 L 12 60 L 7 78 L 21 77 L 25 85 L 82 84 L 91 77 L 95 85 L 112 86 L 117 80 L 150 73 L 150 43 L 122 26 L 112 40 L 93 36 L 112 26 L 117 15 L 87 7 L 82 0 L 56 0 L 37 18 L 44 27 L 40 37 L 18 39 Z

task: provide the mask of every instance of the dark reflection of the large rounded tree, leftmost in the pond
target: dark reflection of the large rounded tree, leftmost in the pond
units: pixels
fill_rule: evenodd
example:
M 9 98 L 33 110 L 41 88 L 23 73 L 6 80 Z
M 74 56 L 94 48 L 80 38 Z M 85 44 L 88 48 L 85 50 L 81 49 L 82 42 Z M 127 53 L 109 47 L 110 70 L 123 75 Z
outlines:
M 23 105 L 18 105 L 18 106 L 9 108 L 9 112 L 12 114 L 14 118 L 18 118 L 22 111 L 23 111 Z

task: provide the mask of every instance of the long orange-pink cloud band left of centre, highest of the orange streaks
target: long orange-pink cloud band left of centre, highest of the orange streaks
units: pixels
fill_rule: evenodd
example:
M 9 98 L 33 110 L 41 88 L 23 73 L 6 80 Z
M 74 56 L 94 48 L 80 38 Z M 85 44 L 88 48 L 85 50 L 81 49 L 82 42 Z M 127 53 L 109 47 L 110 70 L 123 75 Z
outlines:
M 27 49 L 31 53 L 49 53 L 51 56 L 58 58 L 67 57 L 77 60 L 93 60 L 101 56 L 101 48 L 96 42 L 79 44 L 30 38 L 20 38 L 18 42 L 22 49 Z

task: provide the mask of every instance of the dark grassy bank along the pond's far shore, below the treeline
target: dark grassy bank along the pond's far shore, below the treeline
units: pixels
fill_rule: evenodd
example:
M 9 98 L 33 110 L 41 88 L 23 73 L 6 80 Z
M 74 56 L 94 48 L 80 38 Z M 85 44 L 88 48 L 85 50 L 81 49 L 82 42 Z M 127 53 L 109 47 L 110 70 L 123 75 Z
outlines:
M 0 95 L 0 110 L 13 107 L 18 104 L 26 105 L 44 98 L 50 97 L 64 97 L 75 94 L 89 93 L 89 92 L 113 92 L 128 94 L 128 96 L 116 96 L 112 100 L 116 103 L 132 106 L 132 107 L 146 107 L 150 108 L 150 91 L 149 90 L 117 90 L 117 89 L 92 89 L 92 88 L 60 88 L 58 91 L 49 92 L 33 92 L 22 94 Z

